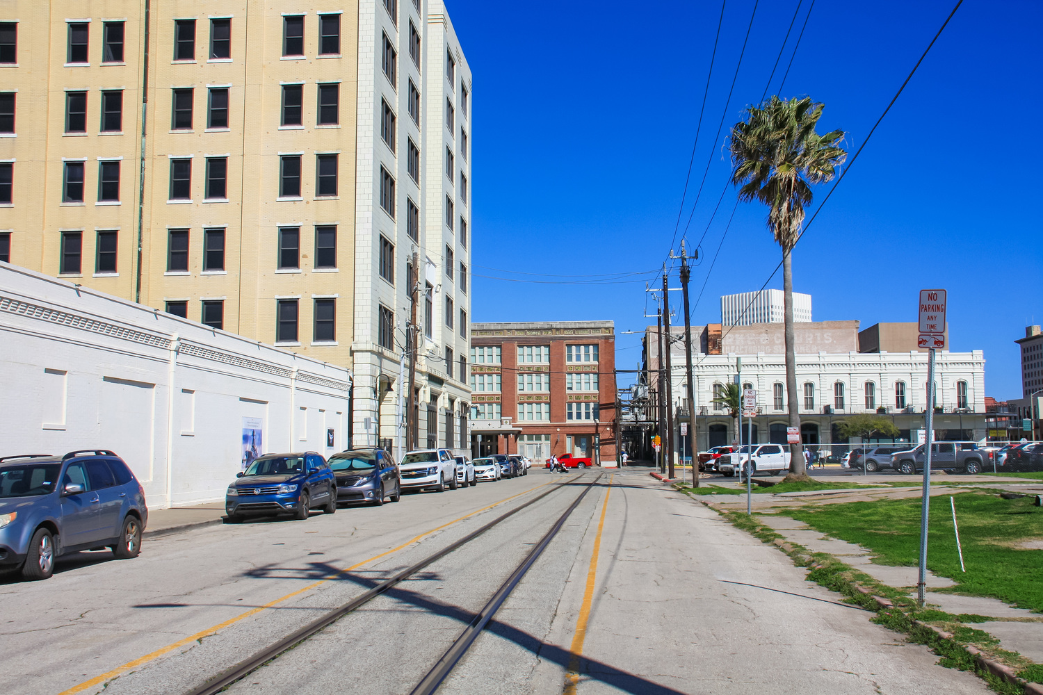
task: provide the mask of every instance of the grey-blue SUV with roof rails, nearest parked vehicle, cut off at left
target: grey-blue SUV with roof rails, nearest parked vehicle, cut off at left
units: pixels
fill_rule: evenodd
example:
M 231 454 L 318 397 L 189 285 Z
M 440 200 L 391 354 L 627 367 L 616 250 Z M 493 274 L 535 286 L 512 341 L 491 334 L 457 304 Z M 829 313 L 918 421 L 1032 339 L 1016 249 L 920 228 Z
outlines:
M 112 451 L 0 458 L 0 569 L 46 579 L 67 553 L 137 557 L 147 521 L 145 491 Z

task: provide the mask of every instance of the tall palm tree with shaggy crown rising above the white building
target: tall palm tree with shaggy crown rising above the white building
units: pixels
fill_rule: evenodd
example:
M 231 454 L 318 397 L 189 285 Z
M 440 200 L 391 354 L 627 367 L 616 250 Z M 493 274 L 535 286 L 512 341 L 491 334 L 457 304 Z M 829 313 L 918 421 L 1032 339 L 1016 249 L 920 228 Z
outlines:
M 793 334 L 792 251 L 800 238 L 804 208 L 811 203 L 811 184 L 836 175 L 847 152 L 839 143 L 843 130 L 824 135 L 815 131 L 824 104 L 803 99 L 771 97 L 747 108 L 731 129 L 731 182 L 738 199 L 768 205 L 768 228 L 782 247 L 782 291 L 785 308 L 785 390 L 790 426 L 800 430 L 797 399 L 797 361 Z M 791 444 L 791 476 L 806 478 L 803 447 Z

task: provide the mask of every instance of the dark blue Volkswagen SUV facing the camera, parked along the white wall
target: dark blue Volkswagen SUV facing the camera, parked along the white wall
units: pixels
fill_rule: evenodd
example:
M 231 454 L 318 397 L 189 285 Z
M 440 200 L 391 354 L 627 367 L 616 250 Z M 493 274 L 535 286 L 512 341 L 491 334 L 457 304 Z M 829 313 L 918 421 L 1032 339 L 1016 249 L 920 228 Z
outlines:
M 325 458 L 314 451 L 266 453 L 236 477 L 224 496 L 229 523 L 273 514 L 307 519 L 316 506 L 326 514 L 337 511 L 337 479 Z

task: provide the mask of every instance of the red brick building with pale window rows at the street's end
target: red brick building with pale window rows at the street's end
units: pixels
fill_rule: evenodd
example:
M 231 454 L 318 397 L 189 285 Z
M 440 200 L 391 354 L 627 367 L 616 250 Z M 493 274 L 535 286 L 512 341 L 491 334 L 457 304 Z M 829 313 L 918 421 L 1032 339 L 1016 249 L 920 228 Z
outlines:
M 474 323 L 471 451 L 590 456 L 615 465 L 611 321 Z

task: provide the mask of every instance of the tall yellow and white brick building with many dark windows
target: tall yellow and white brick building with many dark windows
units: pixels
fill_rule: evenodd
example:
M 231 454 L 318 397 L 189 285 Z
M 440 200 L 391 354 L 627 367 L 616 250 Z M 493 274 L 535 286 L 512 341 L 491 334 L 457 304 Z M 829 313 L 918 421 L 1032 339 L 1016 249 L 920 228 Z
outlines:
M 357 446 L 418 278 L 418 441 L 462 448 L 470 90 L 435 1 L 8 0 L 0 260 L 350 367 Z

